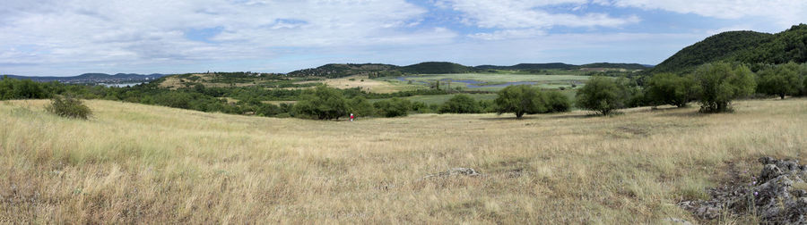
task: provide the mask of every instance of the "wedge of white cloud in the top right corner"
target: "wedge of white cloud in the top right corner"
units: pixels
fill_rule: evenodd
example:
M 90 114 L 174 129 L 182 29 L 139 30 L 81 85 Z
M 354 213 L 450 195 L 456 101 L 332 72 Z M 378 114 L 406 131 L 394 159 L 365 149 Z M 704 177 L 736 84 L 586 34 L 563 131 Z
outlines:
M 761 17 L 779 25 L 807 21 L 807 1 L 803 0 L 595 0 L 596 4 L 694 13 L 719 19 Z

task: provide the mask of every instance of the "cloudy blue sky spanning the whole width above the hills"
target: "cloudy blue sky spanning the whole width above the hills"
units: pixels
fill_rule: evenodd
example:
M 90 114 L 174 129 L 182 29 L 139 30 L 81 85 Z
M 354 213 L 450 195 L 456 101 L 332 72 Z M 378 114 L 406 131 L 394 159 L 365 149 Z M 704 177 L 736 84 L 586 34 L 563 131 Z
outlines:
M 325 63 L 661 63 L 804 0 L 3 0 L 0 74 L 289 72 Z

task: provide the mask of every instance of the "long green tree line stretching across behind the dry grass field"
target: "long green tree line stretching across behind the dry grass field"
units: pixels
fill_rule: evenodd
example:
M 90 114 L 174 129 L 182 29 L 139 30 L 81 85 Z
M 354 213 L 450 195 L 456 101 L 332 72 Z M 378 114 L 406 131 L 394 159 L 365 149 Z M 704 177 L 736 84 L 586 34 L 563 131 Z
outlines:
M 368 93 L 358 88 L 267 89 L 261 87 L 194 87 L 170 90 L 156 84 L 134 87 L 65 85 L 31 80 L 0 80 L 0 100 L 77 96 L 141 104 L 157 104 L 203 112 L 256 114 L 334 120 L 350 113 L 360 117 L 405 116 L 410 112 L 514 113 L 566 112 L 579 109 L 612 114 L 619 109 L 670 104 L 687 107 L 699 102 L 701 112 L 730 112 L 731 102 L 746 96 L 807 96 L 807 63 L 749 66 L 742 63 L 707 63 L 690 73 L 656 73 L 649 77 L 612 78 L 594 76 L 577 90 L 572 102 L 560 92 L 531 86 L 510 86 L 493 101 L 476 101 L 455 95 L 444 104 L 425 104 L 406 96 L 446 95 L 440 89 L 421 89 L 390 94 Z M 236 101 L 230 101 L 234 99 Z M 383 100 L 372 100 L 383 99 Z M 293 100 L 296 104 L 267 104 Z M 372 100 L 372 101 L 371 101 Z

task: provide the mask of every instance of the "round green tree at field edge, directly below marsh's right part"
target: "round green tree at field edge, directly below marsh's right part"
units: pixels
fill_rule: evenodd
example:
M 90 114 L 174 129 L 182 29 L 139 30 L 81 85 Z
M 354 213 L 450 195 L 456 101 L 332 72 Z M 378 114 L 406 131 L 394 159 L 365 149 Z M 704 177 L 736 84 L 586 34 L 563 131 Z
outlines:
M 513 112 L 519 120 L 524 114 L 548 112 L 545 96 L 537 88 L 527 85 L 505 87 L 493 102 L 499 114 Z

